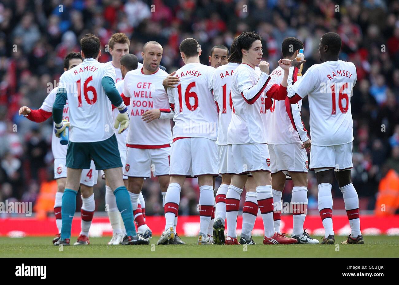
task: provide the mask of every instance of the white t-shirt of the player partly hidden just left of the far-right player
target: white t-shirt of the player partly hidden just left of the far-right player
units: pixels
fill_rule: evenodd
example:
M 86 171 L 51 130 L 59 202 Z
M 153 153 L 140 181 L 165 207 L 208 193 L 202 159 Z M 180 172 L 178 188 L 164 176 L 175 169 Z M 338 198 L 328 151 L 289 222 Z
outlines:
M 270 77 L 272 84 L 280 85 L 284 77 L 284 70 L 281 67 L 277 67 L 272 71 Z M 298 124 L 302 124 L 300 118 L 301 108 L 302 100 L 291 106 L 292 116 L 295 117 L 294 122 L 298 122 Z M 296 129 L 292 126 L 284 100 L 273 100 L 271 108 L 266 112 L 266 126 L 269 135 L 268 143 L 302 143 L 302 140 L 304 140 L 303 142 L 308 140 L 307 132 L 304 130 L 303 125 L 301 127 L 298 126 Z

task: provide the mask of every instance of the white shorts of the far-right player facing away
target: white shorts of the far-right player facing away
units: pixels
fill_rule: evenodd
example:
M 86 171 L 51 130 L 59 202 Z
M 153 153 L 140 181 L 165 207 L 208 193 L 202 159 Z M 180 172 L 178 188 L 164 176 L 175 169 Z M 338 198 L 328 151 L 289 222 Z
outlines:
M 352 142 L 340 145 L 310 147 L 310 167 L 314 168 L 352 168 Z

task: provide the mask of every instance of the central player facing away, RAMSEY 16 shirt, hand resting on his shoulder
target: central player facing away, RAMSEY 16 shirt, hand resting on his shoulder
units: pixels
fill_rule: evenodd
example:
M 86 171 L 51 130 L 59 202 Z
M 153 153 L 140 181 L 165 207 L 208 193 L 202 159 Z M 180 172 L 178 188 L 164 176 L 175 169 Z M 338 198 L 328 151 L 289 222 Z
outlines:
M 213 101 L 212 75 L 215 69 L 199 63 L 201 48 L 195 39 L 180 43 L 185 63 L 176 71 L 180 83 L 168 88 L 174 106 L 173 145 L 170 153 L 170 184 L 165 197 L 165 231 L 157 244 L 174 239 L 174 221 L 180 203 L 180 191 L 186 177 L 198 177 L 200 230 L 198 244 L 207 244 L 217 175 L 217 109 Z M 174 105 L 173 105 L 174 104 Z

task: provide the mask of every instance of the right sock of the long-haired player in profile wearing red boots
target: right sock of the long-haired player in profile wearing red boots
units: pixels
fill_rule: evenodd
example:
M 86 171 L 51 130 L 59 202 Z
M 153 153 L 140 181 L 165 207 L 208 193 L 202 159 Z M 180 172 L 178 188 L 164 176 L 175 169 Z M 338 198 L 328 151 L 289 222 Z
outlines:
M 256 187 L 259 210 L 261 210 L 265 236 L 271 238 L 276 230 L 273 221 L 273 192 L 272 185 Z

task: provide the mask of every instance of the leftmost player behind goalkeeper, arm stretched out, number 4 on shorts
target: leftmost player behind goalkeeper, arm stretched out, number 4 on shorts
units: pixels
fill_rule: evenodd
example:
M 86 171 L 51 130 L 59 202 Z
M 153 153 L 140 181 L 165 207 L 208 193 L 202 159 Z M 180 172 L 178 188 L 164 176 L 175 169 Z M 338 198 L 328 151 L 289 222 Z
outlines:
M 68 53 L 64 59 L 64 71 L 67 71 L 83 62 L 83 58 L 80 53 L 71 52 Z M 51 92 L 44 99 L 43 104 L 40 109 L 32 110 L 27 106 L 20 108 L 19 114 L 26 116 L 29 120 L 33 122 L 44 122 L 51 117 L 53 111 L 53 104 L 55 100 L 55 95 L 57 94 L 57 88 L 51 90 Z M 69 107 L 68 102 L 65 104 L 63 109 L 63 119 L 69 120 Z M 53 239 L 53 244 L 59 240 L 61 236 L 61 201 L 65 190 L 65 183 L 67 181 L 67 168 L 65 166 L 66 156 L 67 156 L 67 145 L 61 145 L 59 143 L 59 138 L 53 134 L 51 138 L 51 150 L 54 157 L 54 179 L 57 181 L 57 193 L 55 193 L 54 202 L 54 215 L 55 222 L 58 229 L 58 234 Z M 77 245 L 87 245 L 90 244 L 89 241 L 89 230 L 91 226 L 91 221 L 93 220 L 93 214 L 95 210 L 95 200 L 93 194 L 93 186 L 97 184 L 98 170 L 95 169 L 94 162 L 91 161 L 90 169 L 83 169 L 81 179 L 80 179 L 80 189 L 81 189 L 81 232 L 75 242 Z

